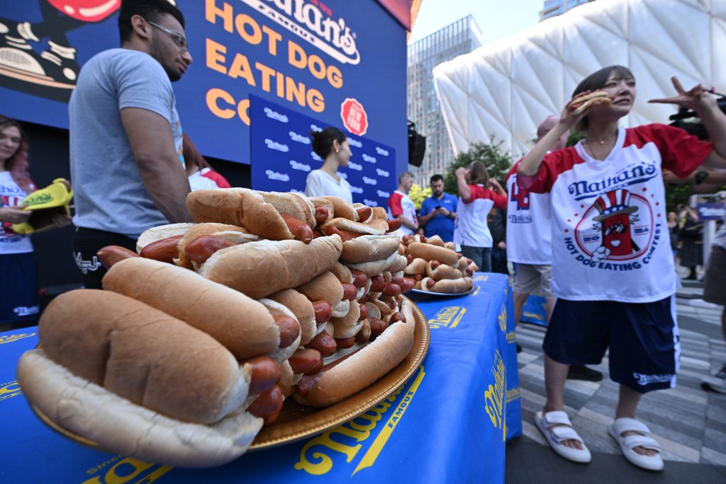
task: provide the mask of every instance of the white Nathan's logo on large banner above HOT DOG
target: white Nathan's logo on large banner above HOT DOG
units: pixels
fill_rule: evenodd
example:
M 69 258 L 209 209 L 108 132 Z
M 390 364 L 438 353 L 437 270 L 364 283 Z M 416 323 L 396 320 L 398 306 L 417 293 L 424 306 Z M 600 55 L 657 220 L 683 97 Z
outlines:
M 269 19 L 303 38 L 333 59 L 356 65 L 361 55 L 356 47 L 356 34 L 343 18 L 333 20 L 317 5 L 305 0 L 242 0 Z M 317 4 L 317 1 L 314 2 Z

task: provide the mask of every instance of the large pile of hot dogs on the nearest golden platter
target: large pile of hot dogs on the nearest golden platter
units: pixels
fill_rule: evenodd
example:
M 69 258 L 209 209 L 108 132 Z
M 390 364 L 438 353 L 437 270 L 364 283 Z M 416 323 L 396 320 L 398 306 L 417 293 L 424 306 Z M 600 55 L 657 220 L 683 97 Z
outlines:
M 383 209 L 243 188 L 187 206 L 197 223 L 99 251 L 104 291 L 46 308 L 18 379 L 50 420 L 120 454 L 219 465 L 283 399 L 335 404 L 407 356 L 415 280 Z

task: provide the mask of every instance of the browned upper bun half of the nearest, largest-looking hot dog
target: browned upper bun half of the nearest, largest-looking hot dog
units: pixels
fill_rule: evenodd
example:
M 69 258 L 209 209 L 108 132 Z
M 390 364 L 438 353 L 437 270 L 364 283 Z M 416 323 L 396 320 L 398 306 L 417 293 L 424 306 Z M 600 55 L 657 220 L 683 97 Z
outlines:
M 221 343 L 111 291 L 57 296 L 41 316 L 38 339 L 73 374 L 176 420 L 218 422 L 247 398 L 250 375 Z

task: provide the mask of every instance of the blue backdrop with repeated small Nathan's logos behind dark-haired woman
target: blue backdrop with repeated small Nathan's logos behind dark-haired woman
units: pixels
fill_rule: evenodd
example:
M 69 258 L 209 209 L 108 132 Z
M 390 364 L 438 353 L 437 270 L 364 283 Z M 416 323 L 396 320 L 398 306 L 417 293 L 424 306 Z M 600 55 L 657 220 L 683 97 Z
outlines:
M 323 162 L 312 149 L 309 132 L 326 125 L 257 96 L 250 99 L 252 188 L 304 193 L 308 173 Z M 351 184 L 354 202 L 385 208 L 398 185 L 395 151 L 369 138 L 348 135 L 348 141 L 353 156 L 338 175 Z

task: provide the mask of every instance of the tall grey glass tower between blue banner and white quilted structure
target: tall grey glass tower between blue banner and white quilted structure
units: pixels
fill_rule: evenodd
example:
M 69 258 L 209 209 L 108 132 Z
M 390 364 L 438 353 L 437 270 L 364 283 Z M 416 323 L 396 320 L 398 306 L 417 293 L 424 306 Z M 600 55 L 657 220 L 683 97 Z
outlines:
M 420 167 L 409 164 L 416 183 L 428 186 L 434 173 L 444 174 L 454 159 L 446 133 L 439 99 L 433 89 L 431 70 L 462 54 L 481 47 L 481 30 L 471 15 L 408 46 L 408 119 L 426 137 L 426 151 Z

